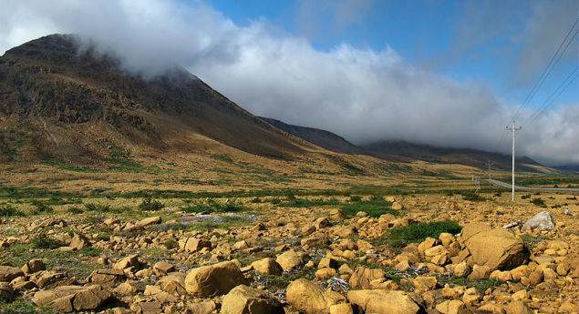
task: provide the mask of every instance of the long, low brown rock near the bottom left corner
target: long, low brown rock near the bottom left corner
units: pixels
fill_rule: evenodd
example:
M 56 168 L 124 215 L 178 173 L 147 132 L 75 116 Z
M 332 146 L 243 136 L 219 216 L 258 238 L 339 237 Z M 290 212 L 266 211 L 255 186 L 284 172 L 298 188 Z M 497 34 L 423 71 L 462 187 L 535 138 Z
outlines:
M 98 309 L 111 298 L 109 290 L 99 285 L 62 286 L 36 292 L 32 302 L 41 307 L 49 306 L 58 312 L 68 313 L 75 310 Z

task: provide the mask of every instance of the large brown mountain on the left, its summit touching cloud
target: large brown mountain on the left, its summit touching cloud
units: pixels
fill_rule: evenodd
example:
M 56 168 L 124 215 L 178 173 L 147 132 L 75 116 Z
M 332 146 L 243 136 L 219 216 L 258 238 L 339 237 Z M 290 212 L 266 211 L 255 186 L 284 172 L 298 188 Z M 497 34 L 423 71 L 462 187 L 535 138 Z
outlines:
M 312 147 L 253 116 L 181 68 L 143 79 L 118 59 L 47 35 L 0 57 L 0 160 L 98 165 L 221 143 L 295 159 Z

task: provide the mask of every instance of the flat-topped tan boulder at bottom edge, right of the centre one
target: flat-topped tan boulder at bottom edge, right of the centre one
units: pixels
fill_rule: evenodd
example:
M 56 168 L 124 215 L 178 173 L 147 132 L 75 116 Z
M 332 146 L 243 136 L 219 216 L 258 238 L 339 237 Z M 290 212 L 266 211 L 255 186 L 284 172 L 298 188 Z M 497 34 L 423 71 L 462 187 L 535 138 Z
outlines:
M 364 313 L 377 314 L 416 314 L 421 311 L 419 305 L 404 291 L 350 290 L 347 300 L 356 304 Z

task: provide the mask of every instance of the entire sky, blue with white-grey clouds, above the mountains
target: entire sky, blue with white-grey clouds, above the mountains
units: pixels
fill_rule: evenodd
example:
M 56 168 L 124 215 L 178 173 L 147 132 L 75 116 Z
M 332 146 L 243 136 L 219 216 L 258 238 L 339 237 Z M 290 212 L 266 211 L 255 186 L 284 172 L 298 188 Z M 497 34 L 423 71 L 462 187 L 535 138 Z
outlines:
M 0 55 L 42 35 L 77 34 L 131 73 L 182 66 L 254 115 L 355 144 L 510 153 L 505 127 L 516 118 L 518 156 L 579 164 L 576 0 L 0 5 Z

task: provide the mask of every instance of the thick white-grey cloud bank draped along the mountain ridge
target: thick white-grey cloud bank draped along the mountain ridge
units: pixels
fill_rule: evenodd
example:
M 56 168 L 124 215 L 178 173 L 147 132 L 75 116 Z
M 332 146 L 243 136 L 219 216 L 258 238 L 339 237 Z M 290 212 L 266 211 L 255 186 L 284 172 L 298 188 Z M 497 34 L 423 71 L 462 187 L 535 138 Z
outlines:
M 6 38 L 0 52 L 40 35 L 77 33 L 115 51 L 129 70 L 153 76 L 179 64 L 255 115 L 324 128 L 356 143 L 389 138 L 510 151 L 510 142 L 499 139 L 516 106 L 485 82 L 435 75 L 391 48 L 342 44 L 319 51 L 264 20 L 234 25 L 202 2 L 26 4 L 7 2 L 3 12 L 17 17 L 0 13 L 0 38 Z M 579 162 L 577 112 L 578 104 L 561 106 L 525 127 L 519 154 Z

